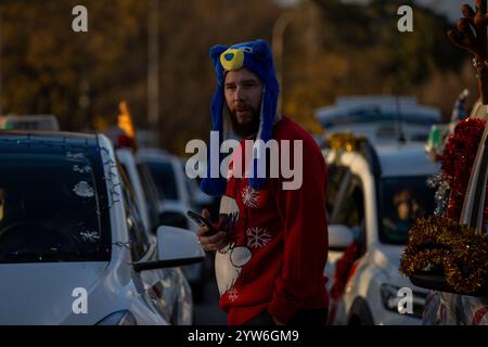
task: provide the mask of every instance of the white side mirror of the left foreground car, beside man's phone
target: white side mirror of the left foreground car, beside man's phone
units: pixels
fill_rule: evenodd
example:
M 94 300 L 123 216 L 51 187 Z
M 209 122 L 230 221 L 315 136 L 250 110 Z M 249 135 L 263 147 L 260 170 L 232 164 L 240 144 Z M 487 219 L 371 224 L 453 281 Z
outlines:
M 136 271 L 176 268 L 200 262 L 205 252 L 194 232 L 163 226 L 157 228 L 157 261 L 134 264 Z

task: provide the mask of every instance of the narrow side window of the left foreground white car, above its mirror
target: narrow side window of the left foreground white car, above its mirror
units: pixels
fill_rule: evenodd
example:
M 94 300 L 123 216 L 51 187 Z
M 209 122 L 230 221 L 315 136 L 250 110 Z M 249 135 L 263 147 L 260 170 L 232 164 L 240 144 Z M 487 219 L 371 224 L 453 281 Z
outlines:
M 118 165 L 124 193 L 124 205 L 126 211 L 127 228 L 129 231 L 130 250 L 132 261 L 138 261 L 147 253 L 150 248 L 150 241 L 144 231 L 144 223 L 142 222 L 139 207 L 136 204 L 136 194 L 130 184 L 127 172 L 121 165 Z

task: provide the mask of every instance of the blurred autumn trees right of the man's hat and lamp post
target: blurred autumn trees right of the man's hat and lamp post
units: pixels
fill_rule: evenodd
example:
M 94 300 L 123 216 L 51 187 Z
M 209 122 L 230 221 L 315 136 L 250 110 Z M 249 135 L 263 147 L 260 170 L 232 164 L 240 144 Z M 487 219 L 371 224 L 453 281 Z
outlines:
M 402 4 L 414 9 L 413 33 L 397 29 Z M 465 87 L 460 78 L 465 55 L 446 36 L 448 20 L 411 0 L 372 0 L 368 7 L 304 0 L 297 16 L 287 37 L 284 111 L 310 129 L 317 128 L 312 110 L 342 94 L 407 93 L 422 101 L 428 99 L 423 86 L 449 74 L 458 76 L 460 90 Z M 447 110 L 451 102 L 435 105 Z

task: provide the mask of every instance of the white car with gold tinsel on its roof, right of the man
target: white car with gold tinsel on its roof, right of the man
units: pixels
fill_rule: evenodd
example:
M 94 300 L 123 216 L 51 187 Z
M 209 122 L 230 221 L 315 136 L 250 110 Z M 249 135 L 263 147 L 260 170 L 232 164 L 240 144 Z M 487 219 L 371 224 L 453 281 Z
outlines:
M 427 178 L 437 171 L 423 144 L 335 150 L 329 165 L 329 260 L 325 275 L 334 285 L 337 259 L 352 240 L 359 255 L 343 295 L 332 300 L 334 324 L 419 324 L 426 291 L 399 272 L 400 256 L 413 220 L 434 209 Z M 413 292 L 413 314 L 400 314 L 399 290 Z

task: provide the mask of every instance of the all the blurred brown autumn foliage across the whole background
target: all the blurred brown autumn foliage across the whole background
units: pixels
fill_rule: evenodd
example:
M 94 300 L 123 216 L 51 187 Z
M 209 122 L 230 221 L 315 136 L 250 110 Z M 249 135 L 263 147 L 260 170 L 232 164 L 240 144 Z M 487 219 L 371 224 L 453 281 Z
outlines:
M 88 9 L 87 34 L 72 30 L 77 4 Z M 446 38 L 447 20 L 431 10 L 412 4 L 414 31 L 399 33 L 400 4 L 412 2 L 303 0 L 288 10 L 296 15 L 284 31 L 284 112 L 320 131 L 313 110 L 341 94 L 413 93 L 448 110 L 457 81 L 465 87 L 465 55 Z M 63 129 L 101 130 L 116 125 L 126 100 L 136 126 L 147 127 L 146 0 L 1 0 L 0 11 L 5 113 L 52 113 Z M 208 49 L 271 42 L 283 12 L 271 0 L 160 0 L 163 147 L 183 154 L 190 139 L 208 137 L 215 88 Z

